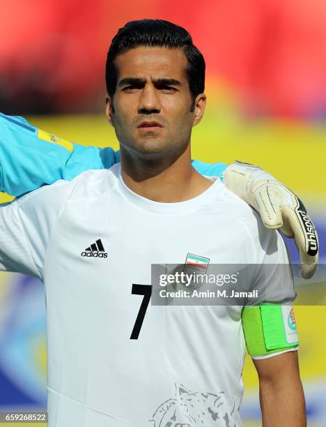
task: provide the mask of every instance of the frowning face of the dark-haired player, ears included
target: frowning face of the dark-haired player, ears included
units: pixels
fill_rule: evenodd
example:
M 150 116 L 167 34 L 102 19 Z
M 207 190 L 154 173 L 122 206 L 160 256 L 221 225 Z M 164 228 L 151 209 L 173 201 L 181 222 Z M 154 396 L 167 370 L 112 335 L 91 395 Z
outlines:
M 118 81 L 113 105 L 107 100 L 107 117 L 121 146 L 153 156 L 187 144 L 203 115 L 205 96 L 196 97 L 191 112 L 183 50 L 136 47 L 115 63 Z

